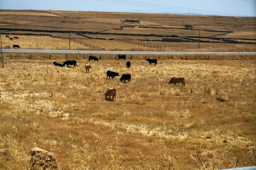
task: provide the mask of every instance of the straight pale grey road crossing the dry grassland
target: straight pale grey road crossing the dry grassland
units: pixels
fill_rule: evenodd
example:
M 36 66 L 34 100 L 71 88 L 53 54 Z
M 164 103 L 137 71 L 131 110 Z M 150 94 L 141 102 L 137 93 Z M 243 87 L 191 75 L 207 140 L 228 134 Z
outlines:
M 256 52 L 172 52 L 172 51 L 78 51 L 78 50 L 31 50 L 31 49 L 3 49 L 3 52 L 8 53 L 79 53 L 79 54 L 256 54 Z

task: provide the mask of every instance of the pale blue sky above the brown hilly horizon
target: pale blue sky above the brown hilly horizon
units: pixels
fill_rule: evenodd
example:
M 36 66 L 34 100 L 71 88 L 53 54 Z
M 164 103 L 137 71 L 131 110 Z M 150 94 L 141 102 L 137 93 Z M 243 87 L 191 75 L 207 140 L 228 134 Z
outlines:
M 256 0 L 0 0 L 0 9 L 199 13 L 256 17 Z

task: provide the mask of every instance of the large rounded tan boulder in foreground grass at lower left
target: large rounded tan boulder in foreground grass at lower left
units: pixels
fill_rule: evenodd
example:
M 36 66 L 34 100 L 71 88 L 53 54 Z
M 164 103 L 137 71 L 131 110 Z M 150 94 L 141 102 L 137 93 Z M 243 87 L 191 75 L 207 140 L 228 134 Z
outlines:
M 31 169 L 35 170 L 35 165 L 43 167 L 43 169 L 59 170 L 58 162 L 52 152 L 43 150 L 39 147 L 30 150 L 30 165 Z

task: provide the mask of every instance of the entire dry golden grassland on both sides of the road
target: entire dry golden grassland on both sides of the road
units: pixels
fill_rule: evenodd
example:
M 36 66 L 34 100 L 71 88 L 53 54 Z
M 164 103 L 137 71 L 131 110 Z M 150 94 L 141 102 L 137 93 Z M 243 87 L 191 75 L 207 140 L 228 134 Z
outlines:
M 184 24 L 201 29 L 201 36 L 255 42 L 255 17 L 81 11 L 79 20 L 79 11 L 0 12 L 1 28 L 20 29 L 2 34 L 3 48 L 18 44 L 21 49 L 66 50 L 69 33 L 58 31 L 71 29 L 93 31 L 95 34 L 84 35 L 107 39 L 89 39 L 72 32 L 72 40 L 124 53 L 256 51 L 255 44 L 211 40 L 216 43 L 201 42 L 198 49 L 198 42 L 161 42 L 152 40 L 162 37 L 127 35 L 197 39 L 198 31 L 178 29 L 184 20 Z M 120 21 L 124 19 L 160 28 L 116 30 L 132 25 Z M 218 35 L 223 33 L 218 31 L 230 30 L 233 32 Z M 5 34 L 19 39 L 11 41 Z M 70 46 L 99 50 L 75 41 Z M 167 170 L 169 165 L 171 170 L 215 170 L 256 165 L 256 55 L 214 55 L 209 60 L 208 55 L 197 55 L 196 60 L 194 55 L 188 55 L 188 60 L 184 55 L 173 55 L 173 60 L 171 55 L 161 55 L 157 65 L 146 62 L 145 55 L 133 55 L 132 59 L 127 55 L 131 68 L 109 54 L 102 54 L 98 62 L 87 60 L 88 55 L 99 58 L 97 54 L 67 54 L 67 59 L 77 60 L 77 68 L 52 64 L 63 63 L 65 54 L 32 54 L 32 59 L 30 54 L 11 55 L 3 54 L 4 68 L 0 68 L 0 170 L 28 170 L 33 147 L 55 153 L 63 170 Z M 92 67 L 89 73 L 86 64 Z M 107 79 L 108 70 L 119 72 L 120 77 L 131 74 L 131 82 L 120 82 L 120 77 Z M 168 84 L 172 77 L 185 77 L 186 86 Z M 117 90 L 115 101 L 105 99 L 109 87 Z M 219 102 L 218 97 L 229 102 Z

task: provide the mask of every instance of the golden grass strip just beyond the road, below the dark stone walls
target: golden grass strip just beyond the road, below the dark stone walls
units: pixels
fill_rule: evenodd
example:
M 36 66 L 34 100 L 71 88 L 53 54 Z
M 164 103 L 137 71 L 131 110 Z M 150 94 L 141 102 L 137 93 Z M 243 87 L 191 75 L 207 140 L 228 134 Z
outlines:
M 13 33 L 13 32 L 12 32 Z M 41 32 L 38 32 L 41 34 Z M 53 36 L 69 37 L 69 34 L 55 33 Z M 30 36 L 30 35 L 15 35 L 15 33 L 9 35 L 9 37 L 18 36 L 19 39 L 13 41 L 9 38 L 2 37 L 3 48 L 9 46 L 12 48 L 13 44 L 20 45 L 21 49 L 69 49 L 69 40 L 61 38 L 52 38 L 49 36 Z M 90 36 L 90 35 L 89 35 Z M 129 39 L 125 43 L 125 40 L 95 40 L 87 39 L 76 34 L 71 34 L 71 37 L 75 40 L 81 40 L 88 44 L 105 48 L 109 51 L 256 51 L 254 44 L 227 44 L 227 43 L 200 43 L 200 49 L 198 49 L 197 42 L 150 42 L 150 41 L 138 41 Z M 93 36 L 92 36 L 93 37 Z M 140 45 L 138 45 L 140 43 Z M 143 45 L 141 45 L 141 43 Z M 145 44 L 145 46 L 144 46 Z M 63 47 L 63 48 L 62 48 Z M 157 48 L 158 47 L 158 48 Z M 72 50 L 99 50 L 97 48 L 91 48 L 80 44 L 79 42 L 70 42 L 70 49 Z

